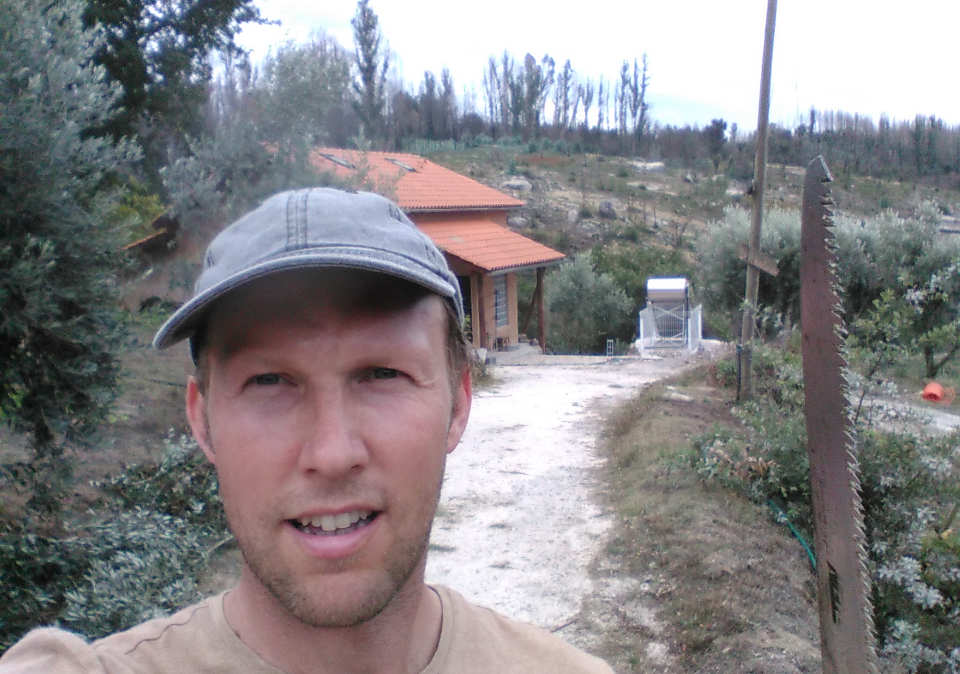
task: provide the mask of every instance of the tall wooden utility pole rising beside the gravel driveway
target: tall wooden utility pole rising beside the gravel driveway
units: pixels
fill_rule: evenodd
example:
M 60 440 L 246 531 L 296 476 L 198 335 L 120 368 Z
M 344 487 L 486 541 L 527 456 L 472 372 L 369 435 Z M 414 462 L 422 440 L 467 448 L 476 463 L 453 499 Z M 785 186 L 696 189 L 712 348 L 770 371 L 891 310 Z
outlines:
M 760 109 L 757 113 L 757 154 L 753 164 L 753 217 L 747 254 L 747 287 L 740 325 L 740 381 L 738 400 L 753 397 L 753 328 L 756 321 L 760 269 L 752 263 L 760 253 L 760 226 L 763 223 L 763 185 L 767 173 L 767 125 L 770 118 L 770 71 L 773 67 L 773 30 L 777 23 L 777 0 L 767 0 L 767 26 L 763 35 L 763 67 L 760 72 Z

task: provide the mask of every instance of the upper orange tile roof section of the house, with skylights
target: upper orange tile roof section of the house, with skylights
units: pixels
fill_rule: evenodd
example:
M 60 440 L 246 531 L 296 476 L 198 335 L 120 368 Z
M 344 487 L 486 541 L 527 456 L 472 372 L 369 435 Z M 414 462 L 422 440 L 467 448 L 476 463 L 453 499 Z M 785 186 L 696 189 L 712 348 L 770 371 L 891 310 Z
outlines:
M 364 175 L 366 189 L 392 198 L 408 213 L 523 206 L 519 199 L 415 154 L 317 148 L 310 156 L 321 171 Z

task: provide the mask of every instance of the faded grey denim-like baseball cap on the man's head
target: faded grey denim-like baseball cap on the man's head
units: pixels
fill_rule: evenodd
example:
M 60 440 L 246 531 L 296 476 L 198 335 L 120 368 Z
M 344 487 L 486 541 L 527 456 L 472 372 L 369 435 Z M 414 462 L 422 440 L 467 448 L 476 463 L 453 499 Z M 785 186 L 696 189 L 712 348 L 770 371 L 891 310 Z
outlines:
M 193 297 L 153 338 L 163 349 L 190 338 L 211 305 L 251 281 L 294 269 L 359 269 L 395 276 L 448 299 L 463 323 L 457 277 L 430 238 L 391 201 L 329 187 L 281 192 L 220 232 L 207 248 Z

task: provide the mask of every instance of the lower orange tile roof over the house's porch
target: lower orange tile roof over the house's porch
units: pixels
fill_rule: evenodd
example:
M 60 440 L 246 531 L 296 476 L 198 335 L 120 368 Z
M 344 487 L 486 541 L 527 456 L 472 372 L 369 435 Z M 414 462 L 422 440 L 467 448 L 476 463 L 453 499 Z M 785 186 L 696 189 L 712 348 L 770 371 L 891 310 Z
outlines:
M 485 271 L 543 266 L 565 255 L 483 218 L 418 223 L 441 250 Z

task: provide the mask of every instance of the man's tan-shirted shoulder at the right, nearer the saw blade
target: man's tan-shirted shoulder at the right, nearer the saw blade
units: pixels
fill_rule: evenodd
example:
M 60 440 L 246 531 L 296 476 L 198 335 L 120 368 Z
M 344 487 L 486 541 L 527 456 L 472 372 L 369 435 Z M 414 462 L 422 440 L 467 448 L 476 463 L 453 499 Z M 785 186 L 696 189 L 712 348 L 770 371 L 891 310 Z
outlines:
M 434 589 L 443 603 L 443 627 L 436 656 L 425 674 L 435 671 L 612 672 L 599 658 L 546 630 L 471 604 L 449 588 Z

